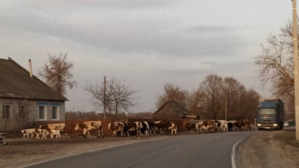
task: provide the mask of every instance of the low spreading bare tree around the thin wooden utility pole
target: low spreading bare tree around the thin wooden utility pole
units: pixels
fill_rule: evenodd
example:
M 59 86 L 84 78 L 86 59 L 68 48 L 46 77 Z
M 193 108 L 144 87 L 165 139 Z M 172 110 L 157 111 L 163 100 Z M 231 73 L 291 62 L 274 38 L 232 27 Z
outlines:
M 118 112 L 130 112 L 132 107 L 138 107 L 135 101 L 139 97 L 135 97 L 137 91 L 132 90 L 126 86 L 124 81 L 114 77 L 108 78 L 106 81 L 106 107 L 109 113 L 115 113 L 115 120 L 117 120 Z M 103 81 L 95 84 L 87 83 L 83 88 L 84 91 L 91 95 L 91 103 L 102 109 L 104 107 L 104 85 Z

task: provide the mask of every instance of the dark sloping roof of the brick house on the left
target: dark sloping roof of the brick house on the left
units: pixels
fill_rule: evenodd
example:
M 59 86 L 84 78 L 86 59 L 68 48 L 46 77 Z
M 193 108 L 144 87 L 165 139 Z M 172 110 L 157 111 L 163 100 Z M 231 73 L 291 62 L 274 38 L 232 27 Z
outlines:
M 0 58 L 0 97 L 68 101 L 11 58 Z

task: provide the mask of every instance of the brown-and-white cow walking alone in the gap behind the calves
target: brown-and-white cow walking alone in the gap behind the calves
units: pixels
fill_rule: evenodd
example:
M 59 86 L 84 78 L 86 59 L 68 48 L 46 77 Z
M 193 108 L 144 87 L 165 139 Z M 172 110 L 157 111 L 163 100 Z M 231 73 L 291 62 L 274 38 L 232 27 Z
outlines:
M 83 130 L 83 135 L 85 135 L 87 132 L 89 136 L 90 136 L 90 132 L 89 132 L 90 130 L 98 130 L 99 131 L 98 136 L 100 136 L 101 132 L 102 135 L 104 136 L 102 121 L 86 121 L 83 122 L 82 124 L 77 124 L 75 130 Z

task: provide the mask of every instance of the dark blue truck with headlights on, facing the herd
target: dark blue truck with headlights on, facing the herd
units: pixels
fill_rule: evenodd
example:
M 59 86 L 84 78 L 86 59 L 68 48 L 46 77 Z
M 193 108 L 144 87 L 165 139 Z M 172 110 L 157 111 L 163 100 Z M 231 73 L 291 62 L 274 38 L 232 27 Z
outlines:
M 283 129 L 284 104 L 279 98 L 261 98 L 257 107 L 258 130 Z

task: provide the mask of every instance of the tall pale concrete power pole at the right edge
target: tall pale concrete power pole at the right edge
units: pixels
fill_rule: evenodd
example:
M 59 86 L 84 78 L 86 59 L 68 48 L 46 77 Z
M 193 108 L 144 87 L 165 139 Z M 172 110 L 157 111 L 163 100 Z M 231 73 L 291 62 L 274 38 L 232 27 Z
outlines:
M 295 121 L 296 139 L 299 140 L 299 74 L 298 74 L 298 43 L 297 43 L 297 8 L 293 0 L 293 48 L 294 48 L 294 84 L 295 84 Z

